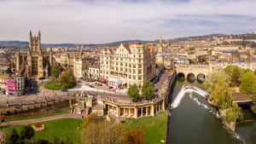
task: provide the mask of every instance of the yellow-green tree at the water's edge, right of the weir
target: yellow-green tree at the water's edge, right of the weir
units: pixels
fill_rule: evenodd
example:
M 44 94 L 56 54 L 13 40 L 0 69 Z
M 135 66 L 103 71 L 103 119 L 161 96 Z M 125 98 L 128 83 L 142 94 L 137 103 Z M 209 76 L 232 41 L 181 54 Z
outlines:
M 225 108 L 231 106 L 231 95 L 229 84 L 219 78 L 218 83 L 212 89 L 210 99 L 214 100 L 218 107 Z

